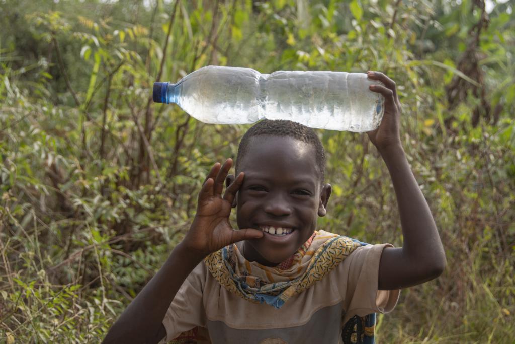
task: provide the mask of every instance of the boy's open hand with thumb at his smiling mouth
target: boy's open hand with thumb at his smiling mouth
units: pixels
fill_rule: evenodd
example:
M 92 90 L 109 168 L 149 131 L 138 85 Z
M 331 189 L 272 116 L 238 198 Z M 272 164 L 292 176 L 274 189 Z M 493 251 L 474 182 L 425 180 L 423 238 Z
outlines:
M 197 214 L 183 244 L 202 256 L 246 239 L 263 237 L 263 232 L 254 228 L 235 230 L 229 222 L 232 202 L 243 184 L 244 173 L 239 173 L 222 196 L 224 181 L 232 166 L 227 159 L 223 166 L 217 162 L 211 168 L 198 196 Z

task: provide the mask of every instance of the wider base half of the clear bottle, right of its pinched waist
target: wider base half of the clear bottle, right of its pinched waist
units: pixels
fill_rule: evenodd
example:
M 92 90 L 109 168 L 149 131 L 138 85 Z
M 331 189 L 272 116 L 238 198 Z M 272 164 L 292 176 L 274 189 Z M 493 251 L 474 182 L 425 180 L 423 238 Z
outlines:
M 273 72 L 266 80 L 264 116 L 312 128 L 366 132 L 379 126 L 383 97 L 364 73 Z

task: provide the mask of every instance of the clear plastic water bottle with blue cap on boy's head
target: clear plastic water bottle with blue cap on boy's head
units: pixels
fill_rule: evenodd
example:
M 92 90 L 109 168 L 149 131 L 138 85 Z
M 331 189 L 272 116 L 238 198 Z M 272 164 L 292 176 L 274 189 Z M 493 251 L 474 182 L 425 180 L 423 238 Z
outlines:
M 277 71 L 208 66 L 177 83 L 155 83 L 156 103 L 176 103 L 197 120 L 246 124 L 267 118 L 312 128 L 368 132 L 384 113 L 384 97 L 369 90 L 379 81 L 365 73 Z

